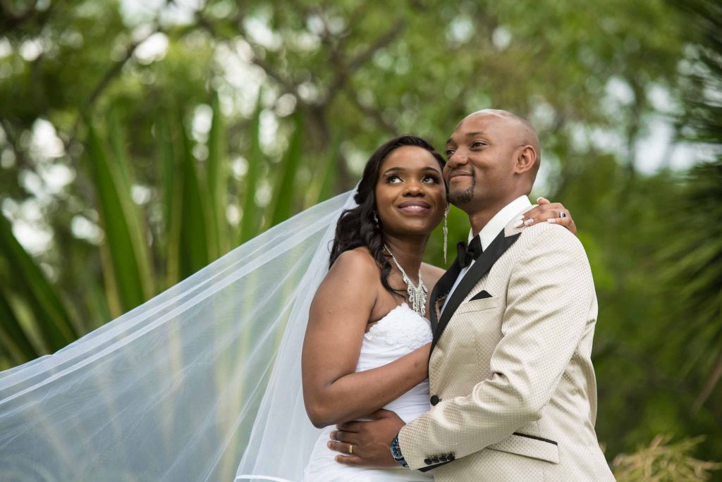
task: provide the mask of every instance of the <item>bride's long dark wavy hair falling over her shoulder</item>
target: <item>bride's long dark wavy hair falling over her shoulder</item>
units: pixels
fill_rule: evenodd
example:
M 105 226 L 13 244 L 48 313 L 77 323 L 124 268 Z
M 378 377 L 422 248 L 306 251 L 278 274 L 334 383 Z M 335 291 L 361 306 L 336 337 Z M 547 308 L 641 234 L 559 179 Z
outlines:
M 376 196 L 375 187 L 378 181 L 378 171 L 383 159 L 391 154 L 394 149 L 402 146 L 416 146 L 426 149 L 443 168 L 444 158 L 436 152 L 425 139 L 405 134 L 395 137 L 378 147 L 366 162 L 359 187 L 354 195 L 354 201 L 358 204 L 354 209 L 347 209 L 342 212 L 338 224 L 336 224 L 336 237 L 331 247 L 331 258 L 329 268 L 344 251 L 365 246 L 371 252 L 379 268 L 381 268 L 381 284 L 388 292 L 396 293 L 388 284 L 388 273 L 391 273 L 391 263 L 383 254 L 383 235 L 381 234 L 380 220 L 375 221 Z

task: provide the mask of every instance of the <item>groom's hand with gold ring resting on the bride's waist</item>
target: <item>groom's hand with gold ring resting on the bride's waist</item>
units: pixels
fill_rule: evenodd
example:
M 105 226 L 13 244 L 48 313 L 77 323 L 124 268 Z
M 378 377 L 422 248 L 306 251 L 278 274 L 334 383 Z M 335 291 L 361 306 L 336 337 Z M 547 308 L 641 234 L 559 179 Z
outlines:
M 343 455 L 336 455 L 336 462 L 362 467 L 399 467 L 391 456 L 391 441 L 406 425 L 396 413 L 388 410 L 375 411 L 370 421 L 350 421 L 336 425 L 329 436 L 329 448 Z

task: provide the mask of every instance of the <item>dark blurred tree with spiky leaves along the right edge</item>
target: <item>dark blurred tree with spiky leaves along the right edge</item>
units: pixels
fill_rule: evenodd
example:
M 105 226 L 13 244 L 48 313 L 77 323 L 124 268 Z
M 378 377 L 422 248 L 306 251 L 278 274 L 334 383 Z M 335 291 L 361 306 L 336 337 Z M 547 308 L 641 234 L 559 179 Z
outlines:
M 695 0 L 683 5 L 701 35 L 695 45 L 695 69 L 687 81 L 687 112 L 679 123 L 686 139 L 717 148 L 722 144 L 722 5 Z M 695 314 L 690 343 L 698 347 L 690 364 L 699 367 L 705 381 L 694 410 L 710 401 L 718 424 L 722 424 L 722 231 L 708 219 L 722 217 L 722 153 L 716 160 L 695 167 L 687 181 L 677 220 L 680 236 L 669 250 L 668 278 L 682 295 L 680 311 Z M 691 280 L 683 282 L 682 280 Z M 710 400 L 710 397 L 716 398 Z

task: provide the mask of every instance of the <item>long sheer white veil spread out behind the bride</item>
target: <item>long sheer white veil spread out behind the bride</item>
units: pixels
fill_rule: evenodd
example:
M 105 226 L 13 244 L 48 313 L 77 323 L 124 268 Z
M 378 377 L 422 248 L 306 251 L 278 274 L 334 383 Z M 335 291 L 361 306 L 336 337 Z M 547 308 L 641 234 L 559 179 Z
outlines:
M 301 343 L 352 194 L 1 372 L 0 480 L 299 480 L 318 437 L 303 408 Z

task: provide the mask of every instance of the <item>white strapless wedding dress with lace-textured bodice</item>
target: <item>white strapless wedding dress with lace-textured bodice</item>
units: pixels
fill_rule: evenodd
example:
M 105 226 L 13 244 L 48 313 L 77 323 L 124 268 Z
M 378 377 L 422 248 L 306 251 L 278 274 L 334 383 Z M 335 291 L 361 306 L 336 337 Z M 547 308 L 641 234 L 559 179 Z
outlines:
M 431 341 L 432 334 L 428 320 L 409 308 L 406 303 L 399 304 L 378 320 L 365 334 L 361 345 L 357 372 L 363 372 L 391 363 L 401 356 L 421 348 Z M 419 383 L 408 392 L 383 407 L 396 412 L 406 423 L 416 419 L 429 410 L 429 383 Z M 321 431 L 313 447 L 308 465 L 304 470 L 305 482 L 353 481 L 429 481 L 430 472 L 422 473 L 408 468 L 368 469 L 351 465 L 342 465 L 334 460 L 339 452 L 326 446 L 329 433 L 335 430 L 331 425 Z

